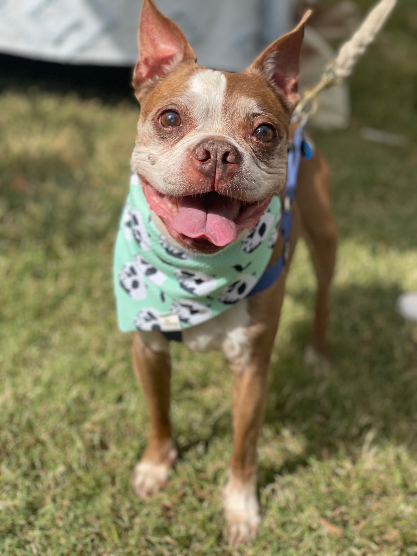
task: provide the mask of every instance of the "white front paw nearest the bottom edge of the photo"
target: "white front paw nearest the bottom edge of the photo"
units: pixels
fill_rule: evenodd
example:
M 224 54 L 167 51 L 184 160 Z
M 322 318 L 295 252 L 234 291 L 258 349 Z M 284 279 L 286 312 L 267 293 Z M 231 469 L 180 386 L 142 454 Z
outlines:
M 224 493 L 224 508 L 229 544 L 247 543 L 259 529 L 259 503 L 255 485 L 236 485 L 229 480 Z

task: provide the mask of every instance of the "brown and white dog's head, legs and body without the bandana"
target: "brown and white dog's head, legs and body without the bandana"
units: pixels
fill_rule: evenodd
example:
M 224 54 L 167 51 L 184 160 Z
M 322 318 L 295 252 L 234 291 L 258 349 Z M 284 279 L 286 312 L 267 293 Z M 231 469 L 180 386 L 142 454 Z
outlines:
M 284 193 L 289 118 L 299 100 L 299 56 L 308 15 L 245 72 L 227 73 L 198 66 L 176 24 L 153 0 L 143 2 L 140 57 L 133 75 L 141 111 L 132 170 L 173 245 L 210 256 L 241 230 L 254 227 L 271 196 Z M 186 217 L 176 217 L 181 207 L 192 209 L 193 203 L 210 212 L 220 196 L 226 224 L 214 232 L 202 235 Z M 221 350 L 234 373 L 234 446 L 224 494 L 230 543 L 245 542 L 259 527 L 256 444 L 286 274 L 299 236 L 310 248 L 318 282 L 310 355 L 325 356 L 337 240 L 327 166 L 319 153 L 300 165 L 291 251 L 279 279 L 221 316 L 183 331 L 186 346 L 199 352 Z M 280 237 L 270 265 L 282 249 Z M 170 421 L 169 342 L 158 331 L 136 332 L 133 363 L 151 419 L 146 450 L 133 473 L 137 494 L 146 498 L 166 483 L 177 455 Z

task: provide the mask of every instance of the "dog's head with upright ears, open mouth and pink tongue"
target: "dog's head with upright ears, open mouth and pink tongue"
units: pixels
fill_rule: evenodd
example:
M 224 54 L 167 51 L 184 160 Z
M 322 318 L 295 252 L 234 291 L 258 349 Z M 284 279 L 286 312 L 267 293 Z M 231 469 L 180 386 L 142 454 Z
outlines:
M 153 0 L 143 2 L 132 170 L 151 210 L 187 249 L 230 244 L 284 188 L 308 16 L 245 72 L 228 73 L 198 66 L 176 24 Z

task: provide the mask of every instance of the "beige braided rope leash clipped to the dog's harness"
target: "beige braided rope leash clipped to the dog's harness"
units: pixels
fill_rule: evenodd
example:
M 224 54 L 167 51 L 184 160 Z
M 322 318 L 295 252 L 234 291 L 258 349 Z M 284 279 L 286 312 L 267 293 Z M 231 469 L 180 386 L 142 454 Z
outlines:
M 300 102 L 298 103 L 294 116 L 300 120 L 307 121 L 318 107 L 317 95 L 329 87 L 339 85 L 346 77 L 353 72 L 356 62 L 365 52 L 366 48 L 383 27 L 390 13 L 393 11 L 396 0 L 380 0 L 374 8 L 371 9 L 363 23 L 349 39 L 342 44 L 336 59 L 329 64 L 321 80 L 315 87 L 309 91 L 305 91 Z

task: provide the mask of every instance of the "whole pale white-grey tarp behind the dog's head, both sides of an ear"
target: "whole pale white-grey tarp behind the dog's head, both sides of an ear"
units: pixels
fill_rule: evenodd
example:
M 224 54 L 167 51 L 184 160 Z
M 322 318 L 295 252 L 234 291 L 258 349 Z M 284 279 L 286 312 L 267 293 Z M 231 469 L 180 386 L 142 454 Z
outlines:
M 0 52 L 130 66 L 141 0 L 0 0 Z M 289 26 L 291 0 L 157 0 L 209 67 L 244 69 Z

